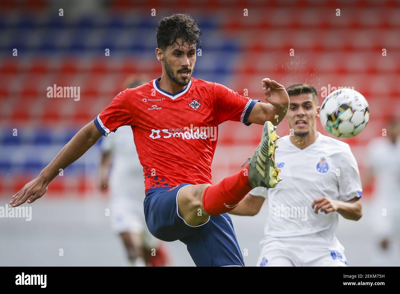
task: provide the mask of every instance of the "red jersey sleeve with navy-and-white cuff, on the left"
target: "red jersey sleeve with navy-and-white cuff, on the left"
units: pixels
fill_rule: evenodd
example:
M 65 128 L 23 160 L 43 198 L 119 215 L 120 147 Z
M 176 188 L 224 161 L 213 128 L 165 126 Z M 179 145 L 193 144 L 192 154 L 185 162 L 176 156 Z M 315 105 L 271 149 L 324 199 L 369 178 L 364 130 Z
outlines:
M 126 89 L 120 92 L 112 100 L 111 104 L 94 119 L 94 124 L 104 136 L 115 132 L 120 126 L 132 126 L 134 124 L 133 114 L 126 101 Z

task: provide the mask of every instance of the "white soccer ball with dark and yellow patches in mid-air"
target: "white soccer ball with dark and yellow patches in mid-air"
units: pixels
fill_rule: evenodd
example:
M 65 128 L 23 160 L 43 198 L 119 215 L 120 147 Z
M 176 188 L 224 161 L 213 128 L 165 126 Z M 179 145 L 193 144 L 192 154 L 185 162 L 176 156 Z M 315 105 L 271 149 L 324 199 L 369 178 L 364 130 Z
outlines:
M 369 118 L 368 102 L 356 90 L 336 90 L 321 105 L 322 126 L 328 133 L 339 138 L 351 138 L 360 134 Z

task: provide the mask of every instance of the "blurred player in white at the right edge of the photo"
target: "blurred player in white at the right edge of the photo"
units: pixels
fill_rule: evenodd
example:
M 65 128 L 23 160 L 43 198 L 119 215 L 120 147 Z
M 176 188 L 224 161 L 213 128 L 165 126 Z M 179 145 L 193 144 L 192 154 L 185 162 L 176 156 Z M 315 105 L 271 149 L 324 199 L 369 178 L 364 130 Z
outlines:
M 392 262 L 390 243 L 400 236 L 399 131 L 399 122 L 395 118 L 390 119 L 386 134 L 382 133 L 384 136 L 368 144 L 365 157 L 363 182 L 368 184 L 375 178 L 371 227 L 382 250 L 376 254 L 376 265 Z

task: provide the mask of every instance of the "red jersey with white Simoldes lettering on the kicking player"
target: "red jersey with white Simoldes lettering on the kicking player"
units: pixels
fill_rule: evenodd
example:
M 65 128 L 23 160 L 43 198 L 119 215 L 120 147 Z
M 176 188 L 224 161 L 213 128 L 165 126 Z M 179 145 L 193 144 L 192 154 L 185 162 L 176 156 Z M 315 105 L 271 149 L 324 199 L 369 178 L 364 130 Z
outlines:
M 247 122 L 252 100 L 217 83 L 191 78 L 171 94 L 158 81 L 118 94 L 95 119 L 107 136 L 131 126 L 147 190 L 180 183 L 211 182 L 211 162 L 218 125 L 226 120 Z

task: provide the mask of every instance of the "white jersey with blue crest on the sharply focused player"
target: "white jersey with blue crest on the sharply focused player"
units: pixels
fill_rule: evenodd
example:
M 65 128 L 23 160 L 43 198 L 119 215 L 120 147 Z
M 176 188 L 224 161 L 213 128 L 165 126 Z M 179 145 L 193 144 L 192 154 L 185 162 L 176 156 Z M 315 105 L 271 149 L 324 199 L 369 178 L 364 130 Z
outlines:
M 268 195 L 264 240 L 301 236 L 301 240 L 312 239 L 315 246 L 337 246 L 338 213 L 315 214 L 311 204 L 322 196 L 341 201 L 361 197 L 360 173 L 350 146 L 319 132 L 304 149 L 292 144 L 290 136 L 278 139 L 277 145 L 275 158 L 282 182 L 250 192 Z

